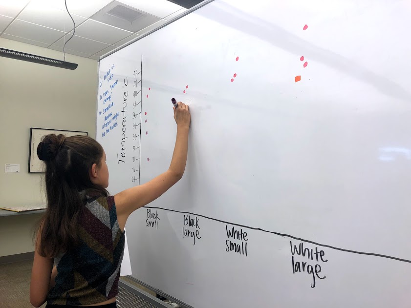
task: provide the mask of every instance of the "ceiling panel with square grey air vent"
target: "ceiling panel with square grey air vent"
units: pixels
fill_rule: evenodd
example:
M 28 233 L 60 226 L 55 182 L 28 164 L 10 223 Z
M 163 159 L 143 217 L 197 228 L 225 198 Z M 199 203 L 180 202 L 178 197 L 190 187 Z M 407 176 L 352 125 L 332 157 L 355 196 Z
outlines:
M 131 32 L 138 32 L 161 20 L 156 16 L 117 1 L 113 1 L 102 8 L 91 16 L 91 19 Z

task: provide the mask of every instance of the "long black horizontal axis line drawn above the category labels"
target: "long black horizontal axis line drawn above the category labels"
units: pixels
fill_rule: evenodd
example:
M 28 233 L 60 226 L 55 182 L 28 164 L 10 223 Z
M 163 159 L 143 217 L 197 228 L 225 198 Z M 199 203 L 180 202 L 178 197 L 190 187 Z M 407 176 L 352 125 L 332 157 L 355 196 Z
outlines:
M 317 242 L 313 242 L 310 240 L 305 240 L 293 235 L 289 235 L 289 234 L 285 234 L 285 233 L 279 233 L 279 232 L 274 232 L 274 231 L 268 231 L 268 230 L 264 230 L 261 228 L 256 228 L 256 227 L 252 227 L 252 226 L 245 226 L 245 225 L 240 225 L 240 224 L 234 224 L 234 223 L 230 223 L 230 222 L 226 222 L 224 220 L 220 220 L 220 219 L 216 219 L 216 218 L 212 218 L 212 217 L 207 217 L 204 215 L 200 215 L 200 214 L 195 214 L 195 213 L 190 213 L 190 212 L 182 212 L 182 211 L 177 211 L 175 209 L 168 209 L 168 208 L 162 208 L 162 207 L 154 207 L 154 206 L 144 206 L 146 208 L 154 208 L 154 209 L 162 209 L 165 211 L 171 211 L 171 212 L 176 212 L 176 213 L 181 213 L 181 214 L 190 214 L 190 215 L 195 215 L 195 216 L 199 216 L 199 217 L 203 217 L 206 219 L 210 219 L 210 220 L 214 220 L 216 222 L 220 222 L 220 223 L 224 223 L 224 224 L 228 224 L 228 225 L 233 225 L 233 226 L 239 226 L 239 227 L 243 227 L 243 228 L 247 228 L 247 229 L 252 229 L 252 230 L 259 230 L 262 232 L 267 232 L 267 233 L 272 233 L 272 234 L 276 234 L 279 236 L 283 236 L 283 237 L 288 237 L 297 241 L 301 241 L 301 242 L 305 242 L 305 243 L 310 243 L 313 245 L 317 245 L 317 246 L 322 246 L 322 247 L 327 247 L 327 248 L 331 248 L 334 250 L 340 250 L 340 251 L 345 251 L 345 252 L 350 252 L 350 253 L 356 253 L 356 254 L 363 254 L 363 255 L 368 255 L 368 256 L 374 256 L 374 257 L 380 257 L 380 258 L 387 258 L 387 259 L 391 259 L 391 260 L 396 260 L 396 261 L 401 261 L 401 262 L 407 262 L 407 263 L 411 263 L 411 260 L 407 260 L 407 259 L 401 259 L 401 258 L 397 258 L 397 257 L 392 257 L 392 256 L 388 256 L 388 255 L 384 255 L 384 254 L 379 254 L 379 253 L 373 253 L 373 252 L 363 252 L 363 251 L 356 251 L 356 250 L 350 250 L 350 249 L 344 249 L 344 248 L 339 248 L 339 247 L 335 247 L 335 246 L 330 246 L 330 245 L 326 245 L 326 244 L 321 244 L 321 243 L 317 243 Z

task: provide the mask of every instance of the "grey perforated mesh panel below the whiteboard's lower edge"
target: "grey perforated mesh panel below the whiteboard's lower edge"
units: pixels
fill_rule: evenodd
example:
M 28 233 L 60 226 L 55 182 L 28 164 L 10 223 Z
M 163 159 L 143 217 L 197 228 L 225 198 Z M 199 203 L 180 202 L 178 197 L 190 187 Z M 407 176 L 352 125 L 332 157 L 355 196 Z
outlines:
M 163 301 L 151 294 L 119 280 L 118 282 L 117 307 L 118 308 L 170 308 Z

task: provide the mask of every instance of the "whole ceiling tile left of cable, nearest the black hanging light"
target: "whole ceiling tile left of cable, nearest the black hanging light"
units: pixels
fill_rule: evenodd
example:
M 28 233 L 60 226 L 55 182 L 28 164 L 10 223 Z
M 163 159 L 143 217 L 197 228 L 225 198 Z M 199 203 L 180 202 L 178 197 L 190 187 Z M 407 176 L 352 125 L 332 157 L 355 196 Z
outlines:
M 52 44 L 64 35 L 64 32 L 19 20 L 13 21 L 4 33 L 48 44 Z

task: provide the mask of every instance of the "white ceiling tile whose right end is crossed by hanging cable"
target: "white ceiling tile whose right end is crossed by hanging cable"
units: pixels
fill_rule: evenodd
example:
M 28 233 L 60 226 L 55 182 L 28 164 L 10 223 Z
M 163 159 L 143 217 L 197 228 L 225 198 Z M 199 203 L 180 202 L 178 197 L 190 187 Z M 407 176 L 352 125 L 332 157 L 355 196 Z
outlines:
M 86 18 L 84 17 L 75 14 L 71 14 L 71 16 L 73 17 L 76 26 L 80 25 L 83 21 L 86 21 Z M 73 21 L 66 11 L 36 1 L 30 2 L 25 7 L 22 14 L 19 15 L 18 19 L 64 32 L 69 32 L 74 28 Z

